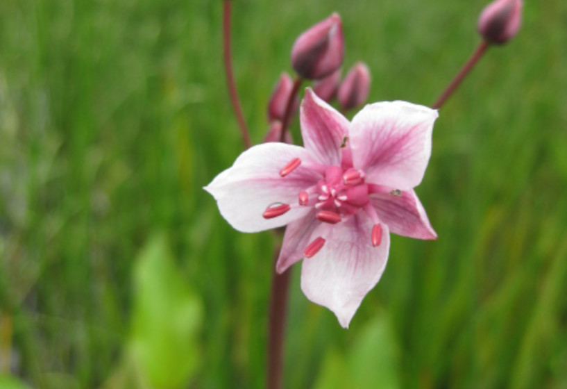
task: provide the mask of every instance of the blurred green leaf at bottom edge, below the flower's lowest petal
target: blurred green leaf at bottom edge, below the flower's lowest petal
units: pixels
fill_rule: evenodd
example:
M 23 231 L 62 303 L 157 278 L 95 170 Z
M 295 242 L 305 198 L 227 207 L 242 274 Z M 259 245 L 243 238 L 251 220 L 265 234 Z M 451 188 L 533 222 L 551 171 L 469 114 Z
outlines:
M 357 334 L 344 355 L 325 356 L 314 388 L 399 388 L 398 345 L 387 317 L 379 315 Z

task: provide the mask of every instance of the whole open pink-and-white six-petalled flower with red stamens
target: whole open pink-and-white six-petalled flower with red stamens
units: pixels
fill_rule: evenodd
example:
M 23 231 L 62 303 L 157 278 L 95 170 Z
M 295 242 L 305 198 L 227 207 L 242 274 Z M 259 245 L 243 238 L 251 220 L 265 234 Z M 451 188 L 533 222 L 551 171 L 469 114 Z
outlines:
M 346 328 L 384 272 L 390 232 L 437 238 L 414 192 L 436 118 L 436 110 L 393 101 L 369 104 L 348 122 L 307 88 L 305 147 L 252 147 L 205 190 L 239 231 L 287 225 L 276 270 L 305 258 L 303 292 Z

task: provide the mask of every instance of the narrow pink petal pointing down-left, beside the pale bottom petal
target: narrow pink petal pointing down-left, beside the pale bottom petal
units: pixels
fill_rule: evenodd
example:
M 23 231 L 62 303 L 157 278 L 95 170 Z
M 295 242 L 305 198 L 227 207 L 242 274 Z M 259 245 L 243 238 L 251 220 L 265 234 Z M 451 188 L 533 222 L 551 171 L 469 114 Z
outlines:
M 276 271 L 279 274 L 282 274 L 288 267 L 303 258 L 303 250 L 310 244 L 314 229 L 321 224 L 315 217 L 317 212 L 318 210 L 311 208 L 311 212 L 307 216 L 287 225 L 280 257 L 278 263 L 276 263 Z

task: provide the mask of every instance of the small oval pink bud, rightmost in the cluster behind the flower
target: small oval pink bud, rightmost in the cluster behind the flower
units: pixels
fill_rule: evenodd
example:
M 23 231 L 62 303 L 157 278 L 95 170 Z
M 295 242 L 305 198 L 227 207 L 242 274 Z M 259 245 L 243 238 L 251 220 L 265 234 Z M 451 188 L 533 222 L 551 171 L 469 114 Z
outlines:
M 370 90 L 370 71 L 364 63 L 357 63 L 339 85 L 337 99 L 343 110 L 355 108 L 366 101 Z

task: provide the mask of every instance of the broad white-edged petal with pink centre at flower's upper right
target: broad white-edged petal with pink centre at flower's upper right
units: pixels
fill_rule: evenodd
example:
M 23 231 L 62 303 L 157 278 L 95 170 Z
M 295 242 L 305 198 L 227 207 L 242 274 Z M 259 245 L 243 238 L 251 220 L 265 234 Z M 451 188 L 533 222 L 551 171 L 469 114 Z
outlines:
M 431 156 L 437 110 L 393 101 L 369 104 L 350 124 L 353 164 L 367 183 L 408 190 L 421 183 Z

